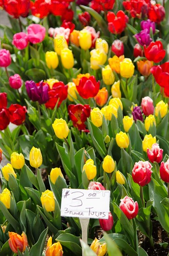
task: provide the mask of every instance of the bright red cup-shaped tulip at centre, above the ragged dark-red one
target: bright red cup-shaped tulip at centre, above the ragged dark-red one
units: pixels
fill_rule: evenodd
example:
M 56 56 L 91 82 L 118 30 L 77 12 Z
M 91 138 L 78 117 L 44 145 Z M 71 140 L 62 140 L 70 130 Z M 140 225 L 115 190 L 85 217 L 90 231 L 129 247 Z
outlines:
M 100 81 L 96 81 L 96 78 L 92 75 L 89 78 L 82 77 L 79 81 L 79 85 L 76 88 L 82 98 L 89 99 L 96 96 L 99 87 Z

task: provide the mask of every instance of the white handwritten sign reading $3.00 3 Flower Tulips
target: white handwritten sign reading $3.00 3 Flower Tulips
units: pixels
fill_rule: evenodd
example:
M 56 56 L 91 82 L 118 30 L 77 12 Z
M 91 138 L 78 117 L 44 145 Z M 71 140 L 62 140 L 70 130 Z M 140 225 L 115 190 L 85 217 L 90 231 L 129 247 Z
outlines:
M 61 216 L 108 219 L 110 190 L 63 189 Z

